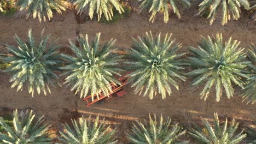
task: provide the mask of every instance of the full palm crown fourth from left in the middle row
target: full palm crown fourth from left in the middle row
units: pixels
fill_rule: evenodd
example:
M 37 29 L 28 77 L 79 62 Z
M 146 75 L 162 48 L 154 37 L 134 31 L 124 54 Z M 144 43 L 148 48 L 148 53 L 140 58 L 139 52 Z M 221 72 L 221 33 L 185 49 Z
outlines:
M 241 77 L 248 78 L 243 69 L 249 62 L 244 61 L 246 55 L 244 49 L 238 48 L 239 44 L 231 38 L 223 43 L 222 34 L 217 34 L 214 39 L 210 36 L 208 39 L 202 37 L 198 49 L 190 48 L 194 54 L 194 57 L 190 57 L 191 65 L 195 70 L 188 75 L 196 76 L 192 82 L 193 87 L 204 83 L 201 99 L 207 99 L 212 87 L 216 89 L 216 101 L 222 97 L 223 88 L 228 98 L 233 96 L 232 82 L 244 88 Z

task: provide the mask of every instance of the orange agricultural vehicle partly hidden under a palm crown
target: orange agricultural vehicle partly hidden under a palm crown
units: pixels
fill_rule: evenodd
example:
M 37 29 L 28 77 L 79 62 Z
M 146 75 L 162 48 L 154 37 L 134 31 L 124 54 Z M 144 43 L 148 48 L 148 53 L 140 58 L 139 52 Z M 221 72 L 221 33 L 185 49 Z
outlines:
M 123 97 L 124 95 L 127 94 L 127 92 L 124 90 L 124 86 L 127 84 L 127 77 L 123 76 L 121 78 L 119 78 L 118 80 L 120 81 L 120 85 L 117 84 L 117 86 L 114 85 L 114 83 L 111 83 L 111 87 L 112 87 L 112 92 L 108 93 L 109 97 L 107 95 L 104 95 L 103 92 L 101 92 L 99 95 L 98 95 L 98 98 L 97 98 L 97 95 L 94 94 L 93 96 L 92 95 L 89 95 L 88 97 L 84 98 L 83 101 L 86 101 L 86 106 L 89 106 L 89 105 L 92 105 L 94 103 L 96 103 L 97 101 L 100 101 L 100 100 L 109 100 L 110 98 L 113 98 L 112 94 L 116 93 L 118 97 Z M 94 97 L 94 100 L 92 100 L 92 97 Z

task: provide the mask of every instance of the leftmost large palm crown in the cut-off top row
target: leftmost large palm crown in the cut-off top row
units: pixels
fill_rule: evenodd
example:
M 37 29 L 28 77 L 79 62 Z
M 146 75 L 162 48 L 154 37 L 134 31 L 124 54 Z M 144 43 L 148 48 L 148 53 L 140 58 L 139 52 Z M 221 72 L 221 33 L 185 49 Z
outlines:
M 27 10 L 27 18 L 32 15 L 34 19 L 38 17 L 39 22 L 53 18 L 53 10 L 60 14 L 65 10 L 62 0 L 19 0 L 17 5 L 20 10 Z

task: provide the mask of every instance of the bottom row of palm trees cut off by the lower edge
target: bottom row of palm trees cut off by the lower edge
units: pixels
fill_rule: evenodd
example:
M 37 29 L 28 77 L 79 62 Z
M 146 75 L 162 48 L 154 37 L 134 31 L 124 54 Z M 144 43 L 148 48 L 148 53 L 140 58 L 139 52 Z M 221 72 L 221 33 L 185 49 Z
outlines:
M 0 141 L 3 143 L 16 144 L 42 144 L 53 143 L 53 133 L 50 132 L 51 125 L 45 124 L 43 116 L 36 117 L 33 111 L 13 112 L 12 119 L 5 122 L 7 119 L 0 118 Z M 167 121 L 161 116 L 160 119 L 156 115 L 152 118 L 149 114 L 149 121 L 136 121 L 133 123 L 132 129 L 127 133 L 127 139 L 130 143 L 137 144 L 182 144 L 189 143 L 184 141 L 184 130 L 178 123 L 172 123 L 168 117 Z M 249 142 L 256 142 L 256 130 L 248 128 L 246 133 L 249 136 Z M 214 113 L 214 127 L 206 120 L 202 119 L 202 125 L 194 124 L 194 128 L 188 130 L 188 134 L 194 138 L 197 143 L 203 144 L 236 144 L 240 143 L 247 136 L 243 130 L 238 131 L 238 123 L 233 119 L 228 122 L 228 119 L 222 124 L 219 122 L 217 113 Z M 104 124 L 104 119 L 96 119 L 80 117 L 72 119 L 72 124 L 64 126 L 62 131 L 59 131 L 59 142 L 70 144 L 110 144 L 118 143 L 117 129 L 111 129 L 110 126 Z M 183 139 L 181 139 L 183 138 Z

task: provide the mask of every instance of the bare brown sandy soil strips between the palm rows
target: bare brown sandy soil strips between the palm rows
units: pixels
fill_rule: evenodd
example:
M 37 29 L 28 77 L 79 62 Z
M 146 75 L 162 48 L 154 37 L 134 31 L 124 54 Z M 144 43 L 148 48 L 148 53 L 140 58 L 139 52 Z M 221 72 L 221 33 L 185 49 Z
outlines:
M 154 34 L 172 33 L 177 42 L 183 43 L 181 52 L 187 52 L 188 46 L 196 46 L 200 41 L 200 35 L 215 35 L 218 32 L 223 33 L 224 38 L 232 36 L 241 40 L 241 46 L 256 43 L 256 22 L 248 20 L 246 16 L 238 21 L 231 21 L 226 26 L 221 26 L 218 21 L 210 26 L 207 20 L 194 17 L 195 11 L 187 11 L 187 14 L 187 16 L 183 15 L 181 20 L 172 15 L 167 24 L 162 22 L 162 16 L 159 16 L 154 23 L 150 23 L 148 14 L 137 13 L 114 24 L 90 21 L 80 25 L 75 21 L 72 11 L 66 11 L 61 16 L 56 15 L 51 22 L 42 24 L 38 20 L 0 17 L 0 51 L 5 51 L 4 43 L 15 45 L 13 39 L 15 33 L 25 39 L 28 28 L 32 28 L 36 36 L 39 36 L 42 28 L 45 28 L 46 34 L 51 33 L 52 38 L 60 38 L 59 43 L 62 45 L 63 53 L 71 52 L 68 49 L 68 39 L 74 40 L 77 31 L 88 34 L 89 38 L 101 32 L 102 43 L 110 38 L 117 39 L 115 46 L 119 50 L 129 49 L 131 37 L 144 35 L 146 31 L 152 31 Z M 107 123 L 119 128 L 119 140 L 124 143 L 127 142 L 124 136 L 131 127 L 131 122 L 139 118 L 147 118 L 148 113 L 170 116 L 173 121 L 181 123 L 184 127 L 189 127 L 191 122 L 199 122 L 201 117 L 212 118 L 214 112 L 218 112 L 221 117 L 236 118 L 242 123 L 255 124 L 256 104 L 242 103 L 237 93 L 232 99 L 223 96 L 219 103 L 215 102 L 214 93 L 207 101 L 202 101 L 199 99 L 200 88 L 189 89 L 191 79 L 181 83 L 181 91 L 173 89 L 173 94 L 165 100 L 160 97 L 149 100 L 148 97 L 135 95 L 133 88 L 127 85 L 125 89 L 128 94 L 125 97 L 114 97 L 89 107 L 85 107 L 83 101 L 73 95 L 73 92 L 69 92 L 66 87 L 52 88 L 51 94 L 35 95 L 32 98 L 26 89 L 22 92 L 11 89 L 8 79 L 8 74 L 0 73 L 0 107 L 33 109 L 38 114 L 45 115 L 57 130 L 62 128 L 60 122 L 63 123 L 70 118 L 100 115 L 106 117 Z

